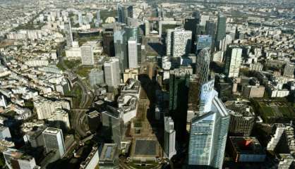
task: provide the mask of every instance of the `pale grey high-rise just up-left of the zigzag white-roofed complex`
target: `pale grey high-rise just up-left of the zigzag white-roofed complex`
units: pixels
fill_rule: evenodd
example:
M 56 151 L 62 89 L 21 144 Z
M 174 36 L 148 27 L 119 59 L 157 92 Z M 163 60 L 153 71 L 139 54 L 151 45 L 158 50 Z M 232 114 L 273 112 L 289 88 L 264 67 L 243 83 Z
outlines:
M 108 86 L 117 87 L 120 84 L 119 70 L 119 58 L 104 62 L 104 81 Z

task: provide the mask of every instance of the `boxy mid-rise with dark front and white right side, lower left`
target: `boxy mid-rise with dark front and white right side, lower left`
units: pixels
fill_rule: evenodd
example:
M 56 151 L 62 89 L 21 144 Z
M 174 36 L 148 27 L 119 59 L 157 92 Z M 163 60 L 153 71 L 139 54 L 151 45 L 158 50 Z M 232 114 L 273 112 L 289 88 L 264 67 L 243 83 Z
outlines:
M 62 130 L 48 127 L 42 132 L 42 135 L 46 151 L 56 151 L 56 153 L 59 154 L 59 157 L 62 158 L 66 152 Z

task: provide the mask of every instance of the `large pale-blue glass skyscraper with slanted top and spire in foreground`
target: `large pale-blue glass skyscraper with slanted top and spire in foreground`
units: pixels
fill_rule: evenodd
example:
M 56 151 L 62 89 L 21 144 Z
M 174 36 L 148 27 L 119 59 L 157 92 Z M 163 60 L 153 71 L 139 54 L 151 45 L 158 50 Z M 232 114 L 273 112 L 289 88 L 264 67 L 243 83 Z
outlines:
M 210 166 L 222 168 L 225 145 L 227 142 L 227 130 L 230 115 L 222 101 L 218 98 L 213 86 L 204 84 L 201 98 L 210 103 L 205 103 L 209 111 L 200 113 L 192 119 L 191 134 L 188 146 L 188 165 Z

